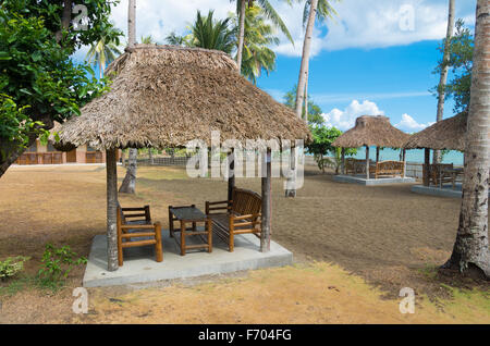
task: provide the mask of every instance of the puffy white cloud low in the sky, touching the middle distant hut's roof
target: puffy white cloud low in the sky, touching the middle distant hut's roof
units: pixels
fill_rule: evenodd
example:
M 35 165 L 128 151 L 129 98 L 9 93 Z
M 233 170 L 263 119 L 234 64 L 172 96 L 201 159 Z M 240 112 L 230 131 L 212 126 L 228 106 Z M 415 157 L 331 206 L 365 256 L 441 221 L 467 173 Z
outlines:
M 363 103 L 354 100 L 343 111 L 332 109 L 329 113 L 323 113 L 327 126 L 335 126 L 345 131 L 355 125 L 356 119 L 362 115 L 384 115 L 384 111 L 380 110 L 375 102 L 365 100 Z

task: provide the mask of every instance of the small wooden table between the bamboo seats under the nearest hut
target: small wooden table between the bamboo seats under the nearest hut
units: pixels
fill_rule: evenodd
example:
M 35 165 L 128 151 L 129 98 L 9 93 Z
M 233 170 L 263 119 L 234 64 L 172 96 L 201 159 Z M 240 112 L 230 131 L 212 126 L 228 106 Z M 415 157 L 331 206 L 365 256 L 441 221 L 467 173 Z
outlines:
M 181 227 L 175 228 L 174 222 L 180 221 Z M 197 223 L 203 222 L 205 224 L 205 231 L 197 231 Z M 187 223 L 192 223 L 191 227 L 186 227 Z M 208 249 L 208 252 L 212 252 L 212 226 L 211 219 L 209 219 L 204 212 L 196 208 L 195 205 L 184 207 L 169 206 L 169 228 L 170 237 L 174 238 L 176 244 L 181 248 L 181 256 L 185 256 L 186 250 L 191 249 Z M 174 233 L 180 232 L 180 239 L 174 237 Z M 186 245 L 185 237 L 197 236 L 203 242 L 196 245 Z

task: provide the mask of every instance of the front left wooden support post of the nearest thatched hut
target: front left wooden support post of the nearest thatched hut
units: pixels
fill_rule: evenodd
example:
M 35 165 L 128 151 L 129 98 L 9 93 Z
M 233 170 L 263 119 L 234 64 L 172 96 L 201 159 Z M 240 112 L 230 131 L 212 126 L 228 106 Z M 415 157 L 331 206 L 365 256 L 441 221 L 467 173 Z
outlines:
M 107 171 L 107 270 L 118 270 L 118 166 L 115 150 L 106 150 Z

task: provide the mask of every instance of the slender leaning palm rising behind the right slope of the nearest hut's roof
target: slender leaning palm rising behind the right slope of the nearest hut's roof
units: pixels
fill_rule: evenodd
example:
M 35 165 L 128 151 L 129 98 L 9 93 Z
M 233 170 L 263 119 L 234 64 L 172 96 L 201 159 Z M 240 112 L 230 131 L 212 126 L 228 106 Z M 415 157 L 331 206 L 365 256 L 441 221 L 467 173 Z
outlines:
M 306 25 L 306 33 L 303 44 L 302 65 L 299 69 L 296 95 L 296 115 L 298 118 L 302 118 L 303 114 L 305 87 L 307 84 L 309 70 L 309 51 L 311 47 L 311 35 L 315 27 L 315 20 L 318 20 L 318 22 L 323 22 L 327 17 L 332 17 L 334 14 L 336 14 L 336 12 L 330 4 L 330 0 L 306 0 L 305 2 L 305 9 L 303 11 L 303 25 Z

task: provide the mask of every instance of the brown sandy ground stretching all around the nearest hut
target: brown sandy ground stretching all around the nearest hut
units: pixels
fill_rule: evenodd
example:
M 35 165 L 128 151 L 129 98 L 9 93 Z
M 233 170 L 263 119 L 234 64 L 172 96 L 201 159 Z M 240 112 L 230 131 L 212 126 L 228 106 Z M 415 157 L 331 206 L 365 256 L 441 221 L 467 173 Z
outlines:
M 123 174 L 120 168 L 120 181 Z M 34 274 L 49 242 L 87 256 L 93 236 L 106 232 L 105 180 L 103 166 L 10 169 L 0 180 L 0 260 L 30 256 L 26 274 Z M 260 191 L 259 180 L 238 178 L 237 185 Z M 490 323 L 486 283 L 455 282 L 436 271 L 454 244 L 457 199 L 412 194 L 409 185 L 338 184 L 314 168 L 295 199 L 283 197 L 281 180 L 272 190 L 272 237 L 293 251 L 294 268 L 136 291 L 90 289 L 90 311 L 77 317 L 71 288 L 81 285 L 78 268 L 56 296 L 29 287 L 0 296 L 0 322 Z M 140 168 L 137 194 L 120 200 L 124 207 L 149 203 L 152 219 L 167 226 L 169 205 L 204 208 L 205 200 L 225 196 L 224 181 Z M 402 287 L 417 293 L 418 313 L 399 312 Z M 264 295 L 267 312 L 257 304 Z

